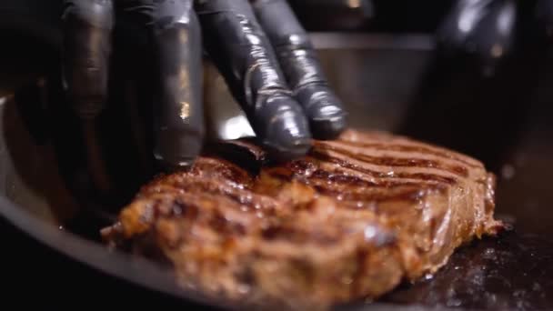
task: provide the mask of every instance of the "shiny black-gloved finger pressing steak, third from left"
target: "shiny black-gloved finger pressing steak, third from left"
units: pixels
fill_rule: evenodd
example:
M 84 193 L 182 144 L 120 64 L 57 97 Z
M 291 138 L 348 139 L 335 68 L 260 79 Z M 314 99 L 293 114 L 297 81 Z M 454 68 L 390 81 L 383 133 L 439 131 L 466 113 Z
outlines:
M 303 156 L 311 135 L 277 57 L 246 0 L 196 2 L 207 52 L 272 156 Z

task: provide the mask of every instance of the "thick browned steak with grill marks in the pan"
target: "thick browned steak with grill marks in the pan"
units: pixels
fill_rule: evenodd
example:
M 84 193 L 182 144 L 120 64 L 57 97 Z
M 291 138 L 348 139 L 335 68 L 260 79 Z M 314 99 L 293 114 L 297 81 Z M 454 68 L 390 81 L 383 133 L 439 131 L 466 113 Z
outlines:
M 238 156 L 202 156 L 145 186 L 106 239 L 162 254 L 183 286 L 313 307 L 381 296 L 502 226 L 494 176 L 444 148 L 350 130 L 271 166 L 229 144 Z

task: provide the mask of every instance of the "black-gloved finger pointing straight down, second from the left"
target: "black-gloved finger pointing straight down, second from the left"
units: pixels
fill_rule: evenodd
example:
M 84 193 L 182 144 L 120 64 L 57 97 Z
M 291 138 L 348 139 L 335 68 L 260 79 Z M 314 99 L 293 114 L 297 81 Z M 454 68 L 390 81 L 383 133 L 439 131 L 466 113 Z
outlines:
M 204 138 L 202 43 L 192 0 L 120 0 L 119 4 L 122 19 L 136 24 L 126 26 L 144 26 L 151 40 L 148 48 L 155 69 L 148 81 L 154 90 L 154 156 L 166 170 L 190 166 Z

